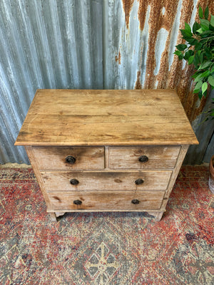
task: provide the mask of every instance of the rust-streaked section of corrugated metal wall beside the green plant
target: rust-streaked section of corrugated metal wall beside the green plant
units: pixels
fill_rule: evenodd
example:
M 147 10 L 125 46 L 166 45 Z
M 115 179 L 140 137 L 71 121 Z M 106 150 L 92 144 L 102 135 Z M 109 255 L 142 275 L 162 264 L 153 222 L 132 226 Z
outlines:
M 122 64 L 122 68 L 131 68 L 126 74 L 132 82 L 128 83 L 126 78 L 121 84 L 119 78 L 115 86 L 175 88 L 188 118 L 193 121 L 203 110 L 205 100 L 198 104 L 197 96 L 193 95 L 193 66 L 178 61 L 173 52 L 181 41 L 179 29 L 185 22 L 193 25 L 198 19 L 199 4 L 203 9 L 208 5 L 210 11 L 214 10 L 213 0 L 122 0 L 125 24 L 121 26 L 120 63 L 117 63 Z M 136 28 L 141 32 L 136 32 Z M 118 73 L 121 74 L 121 66 Z

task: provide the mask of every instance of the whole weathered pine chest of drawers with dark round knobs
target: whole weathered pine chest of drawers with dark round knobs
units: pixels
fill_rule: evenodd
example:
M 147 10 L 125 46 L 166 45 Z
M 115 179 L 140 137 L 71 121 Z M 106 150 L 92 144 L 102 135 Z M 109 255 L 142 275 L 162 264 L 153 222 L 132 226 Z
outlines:
M 175 90 L 36 91 L 24 145 L 51 218 L 148 212 L 160 220 L 198 140 Z

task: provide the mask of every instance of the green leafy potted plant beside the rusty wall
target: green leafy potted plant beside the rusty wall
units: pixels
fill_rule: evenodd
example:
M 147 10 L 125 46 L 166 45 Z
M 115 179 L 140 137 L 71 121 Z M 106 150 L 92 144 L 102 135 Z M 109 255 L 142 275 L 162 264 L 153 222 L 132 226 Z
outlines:
M 192 28 L 185 23 L 185 28 L 180 30 L 183 43 L 176 46 L 175 55 L 179 60 L 185 60 L 195 67 L 193 93 L 197 93 L 201 100 L 210 88 L 214 88 L 214 16 L 209 15 L 208 7 L 203 12 L 201 6 L 198 14 L 199 22 L 195 21 Z M 212 100 L 214 103 L 214 98 Z M 205 120 L 209 119 L 214 119 L 214 108 L 208 111 Z M 209 187 L 214 193 L 214 156 L 210 160 L 209 170 Z

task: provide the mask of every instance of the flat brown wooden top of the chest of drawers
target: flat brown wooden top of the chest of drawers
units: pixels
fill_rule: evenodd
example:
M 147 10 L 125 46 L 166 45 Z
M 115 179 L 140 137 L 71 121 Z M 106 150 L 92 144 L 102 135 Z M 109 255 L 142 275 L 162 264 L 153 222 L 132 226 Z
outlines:
M 198 144 L 175 90 L 36 91 L 15 145 Z

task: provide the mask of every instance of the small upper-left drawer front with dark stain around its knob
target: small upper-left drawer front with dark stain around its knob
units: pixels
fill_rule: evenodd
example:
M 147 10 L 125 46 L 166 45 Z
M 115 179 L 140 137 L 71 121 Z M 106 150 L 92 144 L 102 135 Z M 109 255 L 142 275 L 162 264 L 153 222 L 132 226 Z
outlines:
M 33 147 L 39 169 L 102 170 L 104 147 Z

